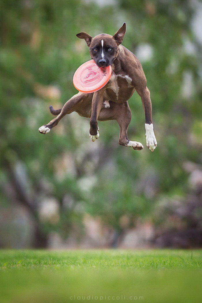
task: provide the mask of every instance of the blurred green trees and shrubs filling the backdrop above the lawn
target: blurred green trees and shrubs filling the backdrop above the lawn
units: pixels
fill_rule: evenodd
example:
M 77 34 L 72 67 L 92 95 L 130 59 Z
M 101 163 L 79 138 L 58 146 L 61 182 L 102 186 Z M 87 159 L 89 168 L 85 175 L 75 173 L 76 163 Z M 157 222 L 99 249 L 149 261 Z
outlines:
M 2 0 L 0 49 L 0 247 L 202 245 L 202 6 L 196 0 Z M 158 147 L 146 147 L 144 111 L 129 100 L 128 135 L 117 122 L 72 113 L 38 128 L 77 93 L 90 59 L 76 37 L 113 35 L 139 58 L 151 92 Z M 200 28 L 200 30 L 199 30 Z

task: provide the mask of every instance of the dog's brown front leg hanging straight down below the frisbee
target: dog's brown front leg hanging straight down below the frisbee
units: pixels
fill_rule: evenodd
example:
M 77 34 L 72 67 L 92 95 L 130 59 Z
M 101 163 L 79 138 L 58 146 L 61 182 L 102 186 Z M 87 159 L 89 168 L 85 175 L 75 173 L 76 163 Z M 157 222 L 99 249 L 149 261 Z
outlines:
M 94 142 L 99 137 L 98 133 L 98 116 L 102 107 L 103 102 L 103 90 L 100 89 L 97 92 L 94 92 L 92 99 L 92 111 L 90 118 L 90 131 L 89 136 L 91 140 Z

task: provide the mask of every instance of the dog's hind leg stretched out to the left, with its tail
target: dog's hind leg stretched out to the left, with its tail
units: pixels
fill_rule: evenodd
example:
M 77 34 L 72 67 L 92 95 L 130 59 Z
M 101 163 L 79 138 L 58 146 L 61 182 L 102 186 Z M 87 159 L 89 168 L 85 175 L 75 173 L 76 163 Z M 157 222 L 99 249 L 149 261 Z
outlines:
M 80 102 L 82 100 L 82 98 L 84 98 L 84 93 L 78 93 L 76 95 L 74 95 L 73 97 L 71 97 L 71 99 L 69 99 L 65 105 L 63 106 L 63 108 L 58 109 L 58 110 L 54 110 L 52 108 L 52 106 L 50 106 L 50 111 L 53 115 L 58 115 L 56 118 L 52 119 L 48 124 L 46 125 L 42 125 L 38 131 L 41 134 L 47 134 L 48 132 L 50 132 L 51 128 L 55 127 L 58 122 L 61 120 L 61 118 L 63 118 L 65 115 L 70 114 L 71 112 L 74 112 L 74 107 L 75 105 Z

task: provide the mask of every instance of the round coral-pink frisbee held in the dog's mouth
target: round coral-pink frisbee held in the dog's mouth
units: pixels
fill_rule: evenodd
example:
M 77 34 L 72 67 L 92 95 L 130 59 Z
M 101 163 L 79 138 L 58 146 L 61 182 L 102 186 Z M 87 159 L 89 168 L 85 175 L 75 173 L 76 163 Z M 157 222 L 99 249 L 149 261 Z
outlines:
M 94 60 L 90 60 L 76 70 L 73 77 L 73 84 L 78 91 L 89 94 L 103 88 L 110 77 L 111 65 L 98 67 Z

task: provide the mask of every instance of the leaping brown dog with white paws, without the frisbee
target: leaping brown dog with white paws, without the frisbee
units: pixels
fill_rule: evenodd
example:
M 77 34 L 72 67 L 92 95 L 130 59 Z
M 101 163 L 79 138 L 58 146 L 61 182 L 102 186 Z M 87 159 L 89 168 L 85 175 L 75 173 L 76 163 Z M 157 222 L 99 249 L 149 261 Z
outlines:
M 99 137 L 98 121 L 116 120 L 120 127 L 118 143 L 132 147 L 134 150 L 143 149 L 140 142 L 127 138 L 127 128 L 131 122 L 131 110 L 127 100 L 134 91 L 140 95 L 145 113 L 146 144 L 153 152 L 157 147 L 152 122 L 152 107 L 150 92 L 142 66 L 137 57 L 121 45 L 126 32 L 126 23 L 113 35 L 100 34 L 94 38 L 85 32 L 76 36 L 84 39 L 89 47 L 91 58 L 98 67 L 111 65 L 112 74 L 108 83 L 94 93 L 74 95 L 63 108 L 50 111 L 56 118 L 39 128 L 41 134 L 47 134 L 51 128 L 67 114 L 77 112 L 80 116 L 90 118 L 89 135 L 94 142 Z

